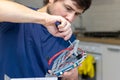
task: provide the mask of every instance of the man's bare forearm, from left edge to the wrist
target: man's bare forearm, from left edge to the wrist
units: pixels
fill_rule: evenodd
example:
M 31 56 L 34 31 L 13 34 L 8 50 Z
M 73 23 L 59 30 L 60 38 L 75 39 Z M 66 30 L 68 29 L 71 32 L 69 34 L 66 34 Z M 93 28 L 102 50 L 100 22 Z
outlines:
M 0 1 L 0 21 L 42 23 L 42 15 L 24 5 L 7 0 Z

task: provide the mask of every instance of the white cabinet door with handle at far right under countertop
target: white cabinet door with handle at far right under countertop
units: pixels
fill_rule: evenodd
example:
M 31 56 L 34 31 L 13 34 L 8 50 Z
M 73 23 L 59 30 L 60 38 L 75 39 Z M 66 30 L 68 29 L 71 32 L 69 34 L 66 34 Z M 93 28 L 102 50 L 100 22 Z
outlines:
M 106 45 L 103 53 L 103 80 L 120 79 L 120 46 Z

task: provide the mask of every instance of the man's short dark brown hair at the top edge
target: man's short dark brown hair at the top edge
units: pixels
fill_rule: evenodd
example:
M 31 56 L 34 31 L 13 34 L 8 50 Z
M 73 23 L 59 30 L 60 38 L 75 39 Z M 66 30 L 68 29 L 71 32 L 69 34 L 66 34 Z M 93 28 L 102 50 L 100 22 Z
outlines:
M 72 1 L 76 2 L 77 5 L 84 11 L 86 11 L 90 7 L 91 2 L 92 2 L 92 0 L 72 0 Z M 44 5 L 48 4 L 48 2 L 49 0 L 44 0 Z

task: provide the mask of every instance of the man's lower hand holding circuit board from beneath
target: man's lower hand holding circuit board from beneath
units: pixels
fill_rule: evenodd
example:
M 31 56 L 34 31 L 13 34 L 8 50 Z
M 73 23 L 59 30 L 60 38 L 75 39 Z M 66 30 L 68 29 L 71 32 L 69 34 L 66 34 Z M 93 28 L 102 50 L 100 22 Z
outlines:
M 74 68 L 69 72 L 64 72 L 62 75 L 62 80 L 78 80 L 78 69 Z

